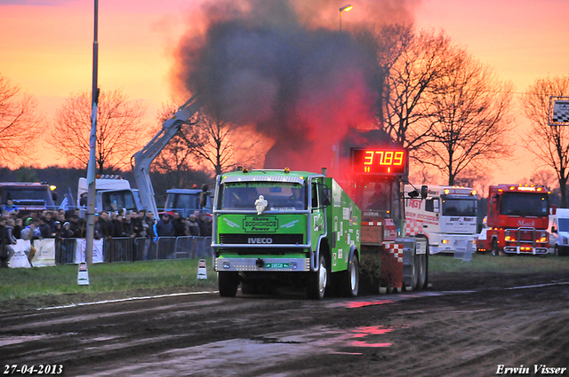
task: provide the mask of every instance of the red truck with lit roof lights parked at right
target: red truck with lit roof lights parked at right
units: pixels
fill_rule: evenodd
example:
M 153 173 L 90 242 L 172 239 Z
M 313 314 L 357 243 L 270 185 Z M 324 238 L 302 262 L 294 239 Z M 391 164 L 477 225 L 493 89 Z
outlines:
M 493 255 L 547 255 L 549 191 L 536 185 L 491 185 L 487 227 L 477 240 L 480 252 Z

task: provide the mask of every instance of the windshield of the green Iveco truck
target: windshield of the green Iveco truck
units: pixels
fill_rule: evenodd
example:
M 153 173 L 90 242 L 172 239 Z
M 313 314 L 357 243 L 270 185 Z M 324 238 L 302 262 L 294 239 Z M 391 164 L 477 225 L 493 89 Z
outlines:
M 255 209 L 260 195 L 272 211 L 306 209 L 303 185 L 283 182 L 236 182 L 221 186 L 220 209 Z

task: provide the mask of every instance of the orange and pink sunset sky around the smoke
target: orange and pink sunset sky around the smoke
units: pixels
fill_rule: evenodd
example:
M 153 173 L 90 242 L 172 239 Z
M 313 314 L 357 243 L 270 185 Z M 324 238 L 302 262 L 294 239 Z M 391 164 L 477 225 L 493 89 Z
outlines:
M 148 123 L 155 124 L 158 109 L 171 98 L 172 49 L 201 2 L 100 0 L 100 88 L 122 89 L 131 100 L 144 101 Z M 336 15 L 340 6 L 354 5 L 342 18 L 342 28 L 349 29 L 350 17 L 357 19 L 357 0 L 328 3 Z M 493 67 L 502 80 L 514 82 L 517 93 L 538 78 L 569 75 L 568 0 L 422 0 L 413 4 L 416 27 L 445 30 L 454 43 Z M 0 73 L 34 95 L 41 114 L 52 119 L 65 98 L 91 90 L 92 26 L 93 1 L 0 0 Z M 516 102 L 517 98 L 519 94 Z M 518 116 L 517 133 L 526 128 L 527 122 Z M 512 139 L 512 144 L 517 145 L 514 161 L 504 161 L 489 184 L 522 183 L 537 167 L 521 137 Z M 42 153 L 37 165 L 64 163 L 53 155 Z

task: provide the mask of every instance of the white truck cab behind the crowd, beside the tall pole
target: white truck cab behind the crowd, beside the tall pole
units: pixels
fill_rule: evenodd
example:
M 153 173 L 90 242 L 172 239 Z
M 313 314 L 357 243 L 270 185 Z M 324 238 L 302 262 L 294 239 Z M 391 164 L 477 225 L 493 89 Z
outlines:
M 79 178 L 77 189 L 77 208 L 87 205 L 87 178 Z M 120 176 L 98 176 L 95 179 L 95 211 L 116 211 L 126 208 L 139 211 L 142 208 L 139 191 L 133 189 L 126 179 Z

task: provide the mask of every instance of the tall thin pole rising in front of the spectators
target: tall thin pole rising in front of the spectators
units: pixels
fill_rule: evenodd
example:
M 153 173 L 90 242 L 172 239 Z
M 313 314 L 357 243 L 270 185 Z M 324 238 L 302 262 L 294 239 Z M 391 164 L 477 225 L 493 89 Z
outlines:
M 99 105 L 99 88 L 97 87 L 97 72 L 99 63 L 99 43 L 97 42 L 99 0 L 95 2 L 95 17 L 92 42 L 92 107 L 91 107 L 91 137 L 89 138 L 89 164 L 87 165 L 87 233 L 85 245 L 85 262 L 92 265 L 92 248 L 95 235 L 95 152 L 97 146 L 97 107 Z

